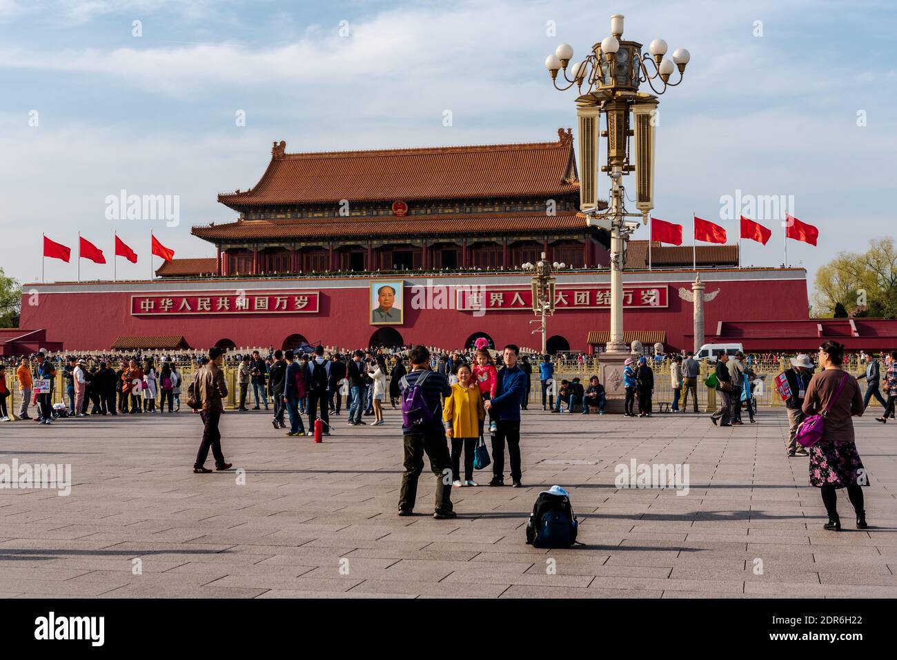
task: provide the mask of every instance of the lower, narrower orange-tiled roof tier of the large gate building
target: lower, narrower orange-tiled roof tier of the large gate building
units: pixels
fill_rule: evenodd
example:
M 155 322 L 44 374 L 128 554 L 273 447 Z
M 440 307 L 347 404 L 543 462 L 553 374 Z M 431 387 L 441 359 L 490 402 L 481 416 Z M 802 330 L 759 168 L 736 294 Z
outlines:
M 414 229 L 412 229 L 414 228 Z M 405 218 L 309 218 L 303 220 L 248 220 L 194 227 L 200 239 L 240 241 L 246 239 L 370 239 L 395 236 L 405 239 L 432 235 L 506 234 L 558 230 L 585 230 L 585 216 L 576 211 L 545 213 L 473 213 L 457 215 L 412 215 Z M 197 259 L 197 261 L 199 261 Z

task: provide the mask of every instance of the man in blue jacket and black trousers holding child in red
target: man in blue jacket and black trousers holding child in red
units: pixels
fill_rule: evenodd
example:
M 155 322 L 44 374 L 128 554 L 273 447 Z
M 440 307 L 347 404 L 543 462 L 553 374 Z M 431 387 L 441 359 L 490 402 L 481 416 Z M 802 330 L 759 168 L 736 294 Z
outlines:
M 497 430 L 492 438 L 492 482 L 490 486 L 504 485 L 504 447 L 508 444 L 510 455 L 510 479 L 514 488 L 522 488 L 520 483 L 520 404 L 527 391 L 527 376 L 517 366 L 520 349 L 513 343 L 504 348 L 504 369 L 499 371 L 499 383 L 492 401 L 483 405 L 497 421 Z M 549 362 L 549 364 L 551 364 Z M 544 391 L 544 390 L 543 390 Z M 497 415 L 496 415 L 497 413 Z

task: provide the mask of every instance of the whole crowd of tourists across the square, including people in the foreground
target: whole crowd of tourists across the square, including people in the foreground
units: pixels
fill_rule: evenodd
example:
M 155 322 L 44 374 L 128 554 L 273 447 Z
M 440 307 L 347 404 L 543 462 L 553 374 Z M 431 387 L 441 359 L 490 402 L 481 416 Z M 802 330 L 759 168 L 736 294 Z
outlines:
M 106 359 L 104 359 L 106 358 Z M 520 412 L 530 399 L 531 375 L 537 369 L 542 387 L 543 410 L 604 414 L 606 395 L 597 376 L 570 380 L 555 376 L 556 365 L 547 355 L 534 364 L 521 358 L 517 346 L 509 344 L 501 352 L 491 351 L 483 340 L 466 351 L 431 352 L 423 346 L 383 352 L 377 349 L 353 352 L 327 352 L 323 346 L 297 351 L 272 351 L 263 357 L 259 351 L 236 356 L 237 409 L 248 411 L 251 391 L 254 408 L 272 412 L 275 430 L 290 428 L 286 435 L 306 435 L 318 418 L 324 436 L 334 432 L 332 416 L 345 408 L 349 426 L 366 425 L 364 417 L 373 417 L 373 426 L 384 423 L 387 398 L 389 409 L 401 409 L 404 437 L 404 465 L 398 501 L 398 513 L 411 515 L 415 506 L 417 481 L 423 469 L 423 456 L 429 457 L 431 471 L 437 476 L 434 517 L 454 517 L 452 487 L 478 485 L 474 481 L 475 458 L 488 450 L 484 438 L 492 439 L 492 480 L 490 486 L 504 485 L 505 452 L 509 456 L 510 482 L 521 487 Z M 196 370 L 185 386 L 179 369 L 181 360 L 196 360 Z M 837 491 L 847 490 L 855 509 L 857 526 L 866 528 L 861 486 L 865 468 L 856 448 L 852 416 L 862 415 L 875 398 L 884 406 L 876 421 L 887 423 L 894 417 L 897 402 L 897 352 L 884 355 L 884 365 L 870 352 L 863 352 L 866 369 L 851 375 L 843 369 L 844 347 L 826 342 L 814 360 L 808 354 L 790 359 L 790 368 L 777 378 L 777 391 L 788 412 L 788 456 L 809 456 L 810 483 L 820 488 L 828 512 L 826 529 L 840 529 Z M 227 470 L 218 428 L 223 402 L 229 395 L 222 369 L 225 352 L 211 349 L 205 355 L 166 354 L 113 357 L 76 355 L 49 360 L 42 352 L 33 361 L 18 360 L 14 379 L 22 393 L 18 416 L 53 423 L 59 416 L 75 418 L 89 415 L 117 415 L 178 412 L 181 397 L 187 395 L 187 407 L 198 412 L 204 433 L 194 464 L 195 473 L 209 473 L 205 467 L 209 451 L 218 470 Z M 685 412 L 691 399 L 692 411 L 698 412 L 698 379 L 701 365 L 692 352 L 684 356 L 664 356 L 669 360 L 669 378 L 673 392 L 671 410 Z M 536 361 L 536 360 L 534 360 Z M 655 374 L 647 356 L 625 361 L 624 414 L 652 415 Z M 719 355 L 713 373 L 705 385 L 715 391 L 718 408 L 710 420 L 720 427 L 742 425 L 746 410 L 755 421 L 753 388 L 756 374 L 752 360 L 742 352 Z M 12 379 L 7 378 L 8 361 L 0 363 L 0 419 L 8 421 L 6 398 Z M 818 370 L 817 370 L 818 369 Z M 10 369 L 12 371 L 12 369 Z M 53 400 L 61 371 L 65 384 L 65 403 Z M 858 380 L 866 380 L 865 396 Z M 397 405 L 396 405 L 397 404 Z M 566 406 L 566 410 L 565 410 Z M 32 418 L 29 414 L 35 411 Z M 824 427 L 818 441 L 809 442 L 810 421 L 824 415 Z M 805 423 L 807 422 L 807 423 Z M 815 423 L 815 422 L 814 422 Z M 463 457 L 463 472 L 462 472 Z M 444 474 L 450 471 L 452 479 Z M 463 477 L 463 478 L 462 478 Z

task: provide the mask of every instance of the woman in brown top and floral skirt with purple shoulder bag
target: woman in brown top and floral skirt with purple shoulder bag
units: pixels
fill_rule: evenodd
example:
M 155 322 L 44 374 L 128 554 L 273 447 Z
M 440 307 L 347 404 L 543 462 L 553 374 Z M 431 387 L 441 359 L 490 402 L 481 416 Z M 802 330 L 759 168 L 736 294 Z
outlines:
M 810 484 L 820 489 L 829 522 L 823 528 L 840 531 L 838 494 L 847 489 L 850 504 L 857 513 L 857 528 L 866 529 L 861 484 L 868 483 L 866 470 L 854 442 L 853 415 L 863 414 L 863 395 L 857 379 L 841 369 L 844 344 L 823 343 L 819 349 L 819 366 L 823 368 L 806 387 L 804 413 L 825 413 L 823 438 L 810 447 Z

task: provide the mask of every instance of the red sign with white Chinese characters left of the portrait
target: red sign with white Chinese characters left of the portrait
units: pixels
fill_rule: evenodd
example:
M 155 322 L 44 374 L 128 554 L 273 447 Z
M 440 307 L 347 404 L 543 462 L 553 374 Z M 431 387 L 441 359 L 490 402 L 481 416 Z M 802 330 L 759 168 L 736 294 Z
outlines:
M 235 291 L 131 296 L 131 316 L 317 314 L 318 291 Z

